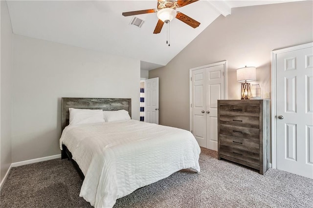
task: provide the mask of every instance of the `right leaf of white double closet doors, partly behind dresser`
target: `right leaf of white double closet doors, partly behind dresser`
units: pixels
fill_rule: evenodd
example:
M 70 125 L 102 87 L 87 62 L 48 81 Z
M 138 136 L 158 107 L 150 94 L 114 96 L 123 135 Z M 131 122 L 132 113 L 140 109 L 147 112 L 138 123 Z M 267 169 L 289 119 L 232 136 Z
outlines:
M 206 68 L 206 148 L 217 151 L 217 100 L 224 99 L 224 64 Z

